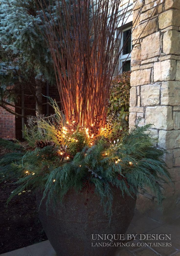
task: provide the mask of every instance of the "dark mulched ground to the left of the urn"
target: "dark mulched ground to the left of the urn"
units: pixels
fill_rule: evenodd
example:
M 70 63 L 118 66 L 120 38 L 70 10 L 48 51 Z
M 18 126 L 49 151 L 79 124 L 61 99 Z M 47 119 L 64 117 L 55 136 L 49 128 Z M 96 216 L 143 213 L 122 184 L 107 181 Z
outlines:
M 0 148 L 0 156 L 7 152 Z M 17 187 L 14 182 L 0 184 L 0 254 L 47 240 L 32 192 L 14 197 L 6 206 L 8 196 Z

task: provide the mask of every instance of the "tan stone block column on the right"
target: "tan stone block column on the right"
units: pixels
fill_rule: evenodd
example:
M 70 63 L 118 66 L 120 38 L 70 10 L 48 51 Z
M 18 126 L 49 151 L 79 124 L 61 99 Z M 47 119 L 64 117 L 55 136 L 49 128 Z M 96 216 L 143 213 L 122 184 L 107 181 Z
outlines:
M 180 194 L 180 3 L 179 0 L 133 0 L 130 127 L 154 124 L 156 146 L 165 148 L 166 163 Z M 141 14 L 138 16 L 140 9 Z

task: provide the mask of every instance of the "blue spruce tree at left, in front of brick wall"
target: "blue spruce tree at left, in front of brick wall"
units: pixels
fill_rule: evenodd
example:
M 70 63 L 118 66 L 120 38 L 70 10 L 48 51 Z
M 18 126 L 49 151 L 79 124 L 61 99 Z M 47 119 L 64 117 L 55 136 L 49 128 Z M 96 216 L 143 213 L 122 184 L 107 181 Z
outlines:
M 9 110 L 6 104 L 28 88 L 36 99 L 36 115 L 41 114 L 46 81 L 55 83 L 55 74 L 36 2 L 1 1 L 0 106 Z

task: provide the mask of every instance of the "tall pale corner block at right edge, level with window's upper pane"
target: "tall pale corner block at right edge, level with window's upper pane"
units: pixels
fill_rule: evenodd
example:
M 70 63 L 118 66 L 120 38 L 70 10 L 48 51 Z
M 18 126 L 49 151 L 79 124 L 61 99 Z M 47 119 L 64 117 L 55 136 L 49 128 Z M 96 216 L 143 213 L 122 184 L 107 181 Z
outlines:
M 180 32 L 177 30 L 168 30 L 164 33 L 163 52 L 165 54 L 180 55 Z

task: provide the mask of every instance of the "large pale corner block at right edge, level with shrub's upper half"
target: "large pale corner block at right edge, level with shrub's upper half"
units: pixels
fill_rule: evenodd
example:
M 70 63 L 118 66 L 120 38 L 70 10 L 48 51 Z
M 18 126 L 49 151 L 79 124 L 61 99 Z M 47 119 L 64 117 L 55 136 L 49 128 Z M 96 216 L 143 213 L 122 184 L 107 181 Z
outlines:
M 161 105 L 180 105 L 180 82 L 167 81 L 161 85 Z

